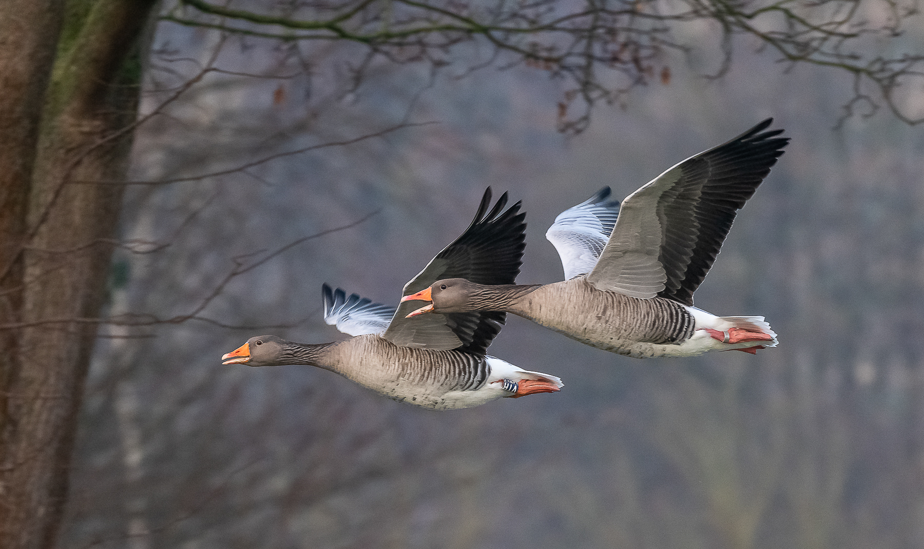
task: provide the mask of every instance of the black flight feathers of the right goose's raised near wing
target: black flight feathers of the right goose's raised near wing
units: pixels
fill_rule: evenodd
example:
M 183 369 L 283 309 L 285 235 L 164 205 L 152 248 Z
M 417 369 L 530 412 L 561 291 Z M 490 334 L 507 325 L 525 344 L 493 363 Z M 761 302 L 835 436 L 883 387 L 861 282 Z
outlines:
M 683 163 L 683 178 L 659 200 L 663 244 L 658 260 L 667 275 L 658 294 L 685 305 L 709 272 L 737 211 L 783 153 L 782 129 L 763 131 L 768 118 L 722 145 Z M 761 133 L 763 132 L 763 133 Z

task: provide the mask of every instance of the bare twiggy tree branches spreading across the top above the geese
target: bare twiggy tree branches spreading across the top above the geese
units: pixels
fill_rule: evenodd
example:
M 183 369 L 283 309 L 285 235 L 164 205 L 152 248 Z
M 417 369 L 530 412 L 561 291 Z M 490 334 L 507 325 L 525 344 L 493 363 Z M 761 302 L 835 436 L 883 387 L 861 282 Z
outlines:
M 626 93 L 645 86 L 656 74 L 667 74 L 668 51 L 690 53 L 708 44 L 683 43 L 683 26 L 718 24 L 711 39 L 723 52 L 717 78 L 731 67 L 736 36 L 758 40 L 780 61 L 833 68 L 868 83 L 876 96 L 857 92 L 845 104 L 845 116 L 858 103 L 885 104 L 907 124 L 924 120 L 903 111 L 895 97 L 909 79 L 924 78 L 924 53 L 873 55 L 875 43 L 901 44 L 902 26 L 918 13 L 917 6 L 900 0 L 537 0 L 507 4 L 426 2 L 419 0 L 346 0 L 302 3 L 297 18 L 272 15 L 206 0 L 178 0 L 162 17 L 165 21 L 230 33 L 294 41 L 361 43 L 372 55 L 395 63 L 429 61 L 443 65 L 437 52 L 475 37 L 494 49 L 489 63 L 501 67 L 524 64 L 565 79 L 569 87 L 559 104 L 559 129 L 577 133 L 590 122 L 590 108 L 599 102 L 621 101 Z M 191 9 L 190 9 L 191 8 Z M 884 11 L 880 23 L 869 12 Z M 475 66 L 483 65 L 477 62 Z M 572 112 L 572 105 L 583 108 Z

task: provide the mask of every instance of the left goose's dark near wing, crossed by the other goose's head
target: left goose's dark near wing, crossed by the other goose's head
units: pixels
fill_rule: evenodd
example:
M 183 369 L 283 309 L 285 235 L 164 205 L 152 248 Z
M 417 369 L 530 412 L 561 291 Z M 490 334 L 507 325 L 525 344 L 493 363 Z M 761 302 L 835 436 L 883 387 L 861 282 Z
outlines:
M 491 188 L 484 191 L 478 213 L 459 238 L 427 264 L 404 287 L 402 296 L 415 294 L 443 278 L 465 278 L 476 284 L 514 284 L 526 248 L 526 218 L 520 202 L 502 210 L 507 193 L 491 211 Z M 383 334 L 395 345 L 450 349 L 483 355 L 501 331 L 506 315 L 500 311 L 428 313 L 406 318 L 419 301 L 401 303 Z

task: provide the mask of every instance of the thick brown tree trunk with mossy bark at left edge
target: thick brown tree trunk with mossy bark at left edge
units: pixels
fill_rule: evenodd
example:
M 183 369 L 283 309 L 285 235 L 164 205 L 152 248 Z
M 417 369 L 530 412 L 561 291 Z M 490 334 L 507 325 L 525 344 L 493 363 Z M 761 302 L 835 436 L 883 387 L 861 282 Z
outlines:
M 38 15 L 44 18 L 61 11 L 53 3 L 40 4 L 45 11 L 39 10 Z M 18 167 L 21 176 L 3 179 L 4 189 L 10 189 L 3 195 L 3 207 L 20 214 L 18 223 L 4 222 L 5 243 L 26 243 L 19 255 L 25 280 L 21 302 L 7 301 L 18 311 L 4 315 L 6 321 L 23 324 L 6 330 L 15 338 L 17 360 L 7 364 L 3 380 L 0 547 L 5 549 L 38 549 L 55 543 L 96 331 L 94 323 L 78 319 L 97 316 L 102 305 L 111 252 L 106 239 L 113 237 L 122 194 L 120 186 L 88 182 L 120 179 L 124 174 L 131 134 L 117 132 L 130 123 L 137 99 L 137 89 L 125 84 L 138 81 L 138 71 L 130 68 L 131 52 L 153 4 L 152 0 L 71 0 L 59 32 L 43 29 L 41 36 L 22 39 L 54 44 L 60 36 L 53 52 L 54 68 L 46 65 L 41 71 L 26 62 L 28 70 L 46 75 L 32 77 L 36 81 L 30 81 L 29 93 L 34 95 L 26 98 L 24 92 L 22 101 L 12 105 L 0 101 L 0 116 L 18 119 L 23 115 L 17 108 L 35 115 L 40 107 L 30 102 L 43 97 L 41 123 L 19 130 L 16 140 L 20 150 L 26 150 L 19 160 L 26 162 Z M 35 21 L 44 20 L 38 15 L 23 19 L 34 29 Z M 0 23 L 16 27 L 16 21 L 10 16 Z M 47 24 L 52 26 L 50 21 Z M 9 39 L 5 35 L 3 40 Z M 48 53 L 35 57 L 45 59 L 43 55 Z M 28 201 L 23 202 L 27 191 Z M 7 256 L 15 253 L 5 251 Z

